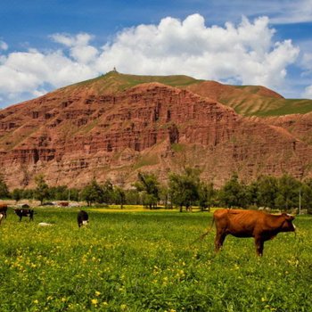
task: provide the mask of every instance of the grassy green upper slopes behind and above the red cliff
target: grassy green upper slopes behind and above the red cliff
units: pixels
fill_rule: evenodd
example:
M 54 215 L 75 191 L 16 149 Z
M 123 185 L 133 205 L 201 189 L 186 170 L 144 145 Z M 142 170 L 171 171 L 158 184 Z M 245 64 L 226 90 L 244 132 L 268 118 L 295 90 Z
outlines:
M 185 75 L 174 76 L 140 76 L 121 74 L 112 70 L 98 78 L 82 81 L 65 87 L 67 92 L 77 92 L 81 89 L 92 94 L 114 94 L 130 87 L 144 83 L 159 82 L 167 86 L 186 88 L 192 86 L 192 92 L 206 96 L 202 89 L 204 80 Z M 281 116 L 287 114 L 304 114 L 312 111 L 312 100 L 284 99 L 282 95 L 264 86 L 227 86 L 222 85 L 222 92 L 216 92 L 216 100 L 232 107 L 244 116 Z

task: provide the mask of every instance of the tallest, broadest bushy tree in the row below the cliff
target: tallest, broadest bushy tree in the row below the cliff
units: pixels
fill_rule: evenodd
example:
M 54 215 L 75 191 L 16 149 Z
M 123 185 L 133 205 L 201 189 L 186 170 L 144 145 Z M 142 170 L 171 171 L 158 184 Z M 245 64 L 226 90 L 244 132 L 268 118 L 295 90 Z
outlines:
M 186 211 L 190 210 L 195 201 L 199 199 L 200 175 L 196 168 L 185 168 L 181 175 L 169 175 L 169 189 L 171 201 L 180 207 L 180 212 L 185 206 Z

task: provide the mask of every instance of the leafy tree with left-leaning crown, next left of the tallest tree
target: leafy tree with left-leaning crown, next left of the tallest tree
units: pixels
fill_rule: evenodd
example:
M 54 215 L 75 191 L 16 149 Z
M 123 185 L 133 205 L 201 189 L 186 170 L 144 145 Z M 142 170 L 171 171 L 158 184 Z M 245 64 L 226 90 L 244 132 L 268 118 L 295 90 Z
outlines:
M 160 184 L 157 177 L 153 174 L 141 173 L 137 174 L 138 181 L 135 182 L 135 188 L 138 192 L 144 193 L 144 206 L 157 208 L 157 202 L 160 200 Z

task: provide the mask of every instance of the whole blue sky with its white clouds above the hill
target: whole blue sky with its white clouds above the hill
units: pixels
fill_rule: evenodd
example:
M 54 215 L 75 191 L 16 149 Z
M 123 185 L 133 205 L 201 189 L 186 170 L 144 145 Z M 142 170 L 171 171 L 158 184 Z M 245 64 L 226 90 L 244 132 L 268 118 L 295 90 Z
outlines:
M 312 0 L 1 1 L 0 107 L 114 66 L 312 98 Z

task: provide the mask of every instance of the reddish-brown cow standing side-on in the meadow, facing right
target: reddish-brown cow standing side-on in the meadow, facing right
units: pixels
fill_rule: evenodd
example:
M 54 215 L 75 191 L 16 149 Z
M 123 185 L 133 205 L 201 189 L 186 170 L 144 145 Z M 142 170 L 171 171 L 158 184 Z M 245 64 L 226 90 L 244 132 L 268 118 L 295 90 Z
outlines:
M 215 250 L 225 242 L 226 235 L 253 237 L 257 255 L 262 256 L 264 242 L 275 238 L 280 232 L 294 232 L 293 216 L 282 213 L 272 215 L 263 211 L 241 209 L 218 209 L 213 214 L 212 225 L 216 223 Z M 211 225 L 211 226 L 212 226 Z M 201 235 L 203 238 L 206 234 Z

